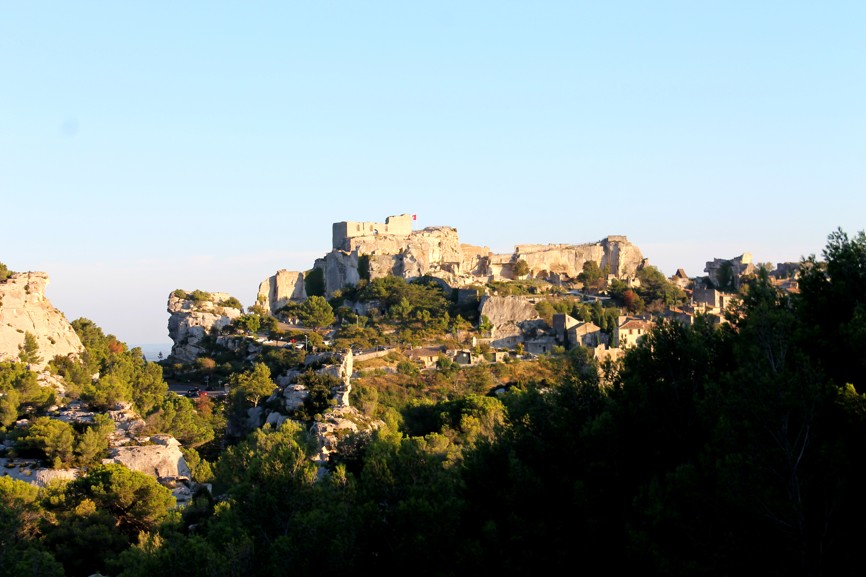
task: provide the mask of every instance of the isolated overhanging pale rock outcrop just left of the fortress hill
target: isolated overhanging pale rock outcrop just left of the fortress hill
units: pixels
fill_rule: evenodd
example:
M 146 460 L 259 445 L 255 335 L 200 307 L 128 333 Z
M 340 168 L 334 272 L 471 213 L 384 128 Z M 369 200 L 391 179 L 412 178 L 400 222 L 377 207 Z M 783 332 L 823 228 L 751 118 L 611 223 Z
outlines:
M 230 299 L 226 293 L 210 293 L 210 300 L 195 301 L 184 298 L 178 291 L 168 297 L 168 336 L 174 341 L 171 355 L 175 361 L 191 363 L 205 349 L 202 340 L 212 331 L 223 327 L 243 314 L 239 308 L 226 306 Z

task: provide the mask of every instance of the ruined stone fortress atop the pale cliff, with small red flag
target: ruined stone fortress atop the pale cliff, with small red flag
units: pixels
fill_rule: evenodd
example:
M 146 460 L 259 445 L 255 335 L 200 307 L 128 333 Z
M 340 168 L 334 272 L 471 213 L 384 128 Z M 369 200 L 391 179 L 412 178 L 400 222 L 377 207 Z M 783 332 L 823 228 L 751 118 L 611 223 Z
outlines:
M 514 279 L 514 265 L 529 265 L 527 278 L 562 283 L 575 279 L 587 261 L 595 261 L 617 278 L 633 277 L 646 264 L 640 249 L 625 236 L 587 244 L 518 245 L 510 254 L 485 246 L 462 244 L 448 226 L 412 230 L 412 216 L 389 216 L 385 222 L 337 222 L 332 250 L 314 268 L 324 278 L 326 296 L 362 278 L 394 275 L 405 279 L 441 278 L 453 287 Z

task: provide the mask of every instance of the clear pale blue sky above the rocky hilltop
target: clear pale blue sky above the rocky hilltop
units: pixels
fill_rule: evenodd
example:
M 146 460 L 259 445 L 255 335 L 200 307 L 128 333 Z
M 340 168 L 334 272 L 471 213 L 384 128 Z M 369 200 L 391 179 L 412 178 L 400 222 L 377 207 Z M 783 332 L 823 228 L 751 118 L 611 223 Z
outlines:
M 670 275 L 866 227 L 866 2 L 5 2 L 0 261 L 131 344 L 331 224 L 625 234 Z

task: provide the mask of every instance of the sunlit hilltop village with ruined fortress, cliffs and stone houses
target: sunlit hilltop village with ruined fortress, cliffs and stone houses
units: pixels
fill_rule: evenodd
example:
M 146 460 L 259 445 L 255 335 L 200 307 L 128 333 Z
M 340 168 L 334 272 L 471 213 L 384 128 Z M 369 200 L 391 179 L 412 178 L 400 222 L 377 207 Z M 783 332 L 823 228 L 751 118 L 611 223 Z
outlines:
M 399 348 L 425 368 L 439 358 L 484 362 L 575 346 L 590 348 L 598 359 L 615 359 L 660 319 L 691 325 L 703 315 L 713 323 L 725 322 L 725 311 L 744 279 L 754 278 L 759 268 L 783 290 L 797 290 L 798 263 L 757 265 L 749 253 L 707 262 L 704 276 L 689 277 L 680 269 L 665 278 L 625 236 L 587 244 L 517 245 L 513 253 L 495 254 L 460 243 L 454 228 L 416 231 L 412 222 L 411 215 L 402 214 L 384 222 L 334 223 L 332 250 L 310 270 L 280 270 L 260 284 L 250 312 L 260 315 L 260 325 L 268 319 L 265 324 L 275 330 L 266 331 L 274 338 L 259 338 L 259 343 L 274 343 L 281 331 L 285 336 L 304 328 L 298 311 L 315 296 L 325 299 L 334 314 L 331 325 L 318 327 L 324 344 L 317 344 L 319 350 L 337 343 L 357 354 L 375 342 L 380 348 Z M 376 319 L 409 321 L 425 314 L 429 326 L 432 311 L 425 312 L 423 305 L 382 290 L 370 294 L 370 287 L 395 279 L 434 283 L 453 305 L 440 313 L 457 310 L 459 317 L 452 315 L 437 334 L 426 337 L 406 338 L 396 325 L 382 327 L 374 337 L 358 330 Z M 228 298 L 217 294 L 195 303 L 170 297 L 173 360 L 194 362 L 204 353 L 200 343 L 208 335 L 224 346 L 242 346 L 227 333 L 245 313 L 239 303 L 219 306 Z M 271 319 L 276 322 L 269 324 Z

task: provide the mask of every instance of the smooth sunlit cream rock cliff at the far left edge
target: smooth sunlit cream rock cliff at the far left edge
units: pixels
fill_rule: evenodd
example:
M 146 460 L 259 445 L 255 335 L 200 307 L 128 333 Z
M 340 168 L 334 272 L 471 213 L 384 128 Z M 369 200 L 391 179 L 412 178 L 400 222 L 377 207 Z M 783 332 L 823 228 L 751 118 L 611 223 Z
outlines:
M 0 282 L 0 360 L 18 360 L 24 336 L 31 333 L 42 361 L 41 370 L 55 356 L 78 355 L 84 346 L 66 317 L 45 297 L 48 275 L 44 272 L 13 274 Z

